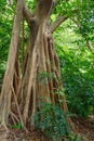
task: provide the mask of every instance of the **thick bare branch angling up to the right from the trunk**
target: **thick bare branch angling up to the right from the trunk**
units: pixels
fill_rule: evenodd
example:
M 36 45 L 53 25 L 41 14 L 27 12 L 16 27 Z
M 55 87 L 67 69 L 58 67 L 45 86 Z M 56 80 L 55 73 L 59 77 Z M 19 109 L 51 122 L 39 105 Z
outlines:
M 68 16 L 58 16 L 57 20 L 51 25 L 51 33 L 54 33 L 54 30 L 66 20 L 68 18 Z

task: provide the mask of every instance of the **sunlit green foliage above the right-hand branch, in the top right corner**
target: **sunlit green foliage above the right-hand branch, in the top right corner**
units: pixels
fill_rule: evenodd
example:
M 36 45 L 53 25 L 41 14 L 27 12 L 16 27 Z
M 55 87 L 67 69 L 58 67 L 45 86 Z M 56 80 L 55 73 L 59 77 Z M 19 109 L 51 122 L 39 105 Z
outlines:
M 55 21 L 58 15 L 75 20 L 79 25 L 75 30 L 94 43 L 94 0 L 57 0 L 51 20 Z

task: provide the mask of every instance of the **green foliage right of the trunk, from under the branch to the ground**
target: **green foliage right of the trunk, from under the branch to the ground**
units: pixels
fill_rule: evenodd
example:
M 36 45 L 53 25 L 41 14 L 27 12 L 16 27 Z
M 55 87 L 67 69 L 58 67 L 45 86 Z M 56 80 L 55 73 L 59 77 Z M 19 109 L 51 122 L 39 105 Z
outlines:
M 54 38 L 69 111 L 88 117 L 94 113 L 94 52 L 85 47 L 83 39 L 73 31 L 72 25 L 68 26 L 68 22 L 63 25 L 64 33 L 61 33 L 61 28 Z

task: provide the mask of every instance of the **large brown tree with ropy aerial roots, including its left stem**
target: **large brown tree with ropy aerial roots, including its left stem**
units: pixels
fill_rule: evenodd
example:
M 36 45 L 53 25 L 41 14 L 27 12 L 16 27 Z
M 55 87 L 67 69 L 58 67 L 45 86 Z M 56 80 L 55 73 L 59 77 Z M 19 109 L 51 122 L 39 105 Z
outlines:
M 17 1 L 6 70 L 0 97 L 0 123 L 5 128 L 9 116 L 17 118 L 15 116 L 16 110 L 23 127 L 30 119 L 31 126 L 35 127 L 33 115 L 37 111 L 41 111 L 39 103 L 42 101 L 59 105 L 64 112 L 68 112 L 65 95 L 56 94 L 57 90 L 62 90 L 63 87 L 59 61 L 52 38 L 53 30 L 67 17 L 61 16 L 58 17 L 59 21 L 57 20 L 50 26 L 49 18 L 53 3 L 53 0 L 38 0 L 35 13 L 31 14 L 23 0 Z M 26 17 L 28 23 L 29 36 L 23 73 L 19 74 L 18 42 L 23 16 Z M 59 100 L 63 100 L 63 103 L 59 103 Z M 69 118 L 67 118 L 67 121 L 72 126 Z

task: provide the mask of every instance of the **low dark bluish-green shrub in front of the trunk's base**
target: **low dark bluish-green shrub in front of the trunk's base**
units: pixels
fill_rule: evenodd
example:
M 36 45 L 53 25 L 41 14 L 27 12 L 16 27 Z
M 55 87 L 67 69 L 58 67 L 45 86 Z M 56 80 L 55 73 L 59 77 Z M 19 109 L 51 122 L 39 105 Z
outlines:
M 62 137 L 67 137 L 70 132 L 65 114 L 59 107 L 53 104 L 41 103 L 41 111 L 35 116 L 36 127 L 44 131 L 48 138 L 59 141 Z

